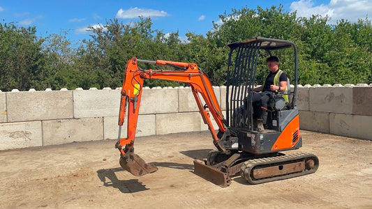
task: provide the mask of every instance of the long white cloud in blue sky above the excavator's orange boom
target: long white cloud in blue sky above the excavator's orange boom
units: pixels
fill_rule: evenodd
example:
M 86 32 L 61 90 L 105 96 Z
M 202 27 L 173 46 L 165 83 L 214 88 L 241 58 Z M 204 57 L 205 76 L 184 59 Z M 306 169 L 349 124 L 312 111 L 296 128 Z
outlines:
M 115 17 L 121 19 L 132 19 L 142 17 L 165 17 L 168 16 L 168 13 L 159 10 L 152 10 L 146 8 L 129 8 L 128 10 L 119 9 Z

